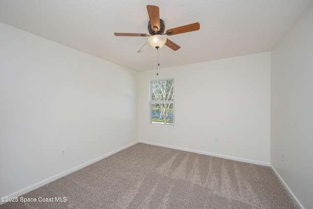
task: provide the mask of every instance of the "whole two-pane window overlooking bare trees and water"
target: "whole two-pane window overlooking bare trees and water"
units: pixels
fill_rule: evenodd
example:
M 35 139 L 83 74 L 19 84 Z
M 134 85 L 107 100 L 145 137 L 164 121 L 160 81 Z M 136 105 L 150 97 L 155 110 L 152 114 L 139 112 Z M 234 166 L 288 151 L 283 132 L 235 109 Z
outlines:
M 151 123 L 174 125 L 174 79 L 150 83 Z

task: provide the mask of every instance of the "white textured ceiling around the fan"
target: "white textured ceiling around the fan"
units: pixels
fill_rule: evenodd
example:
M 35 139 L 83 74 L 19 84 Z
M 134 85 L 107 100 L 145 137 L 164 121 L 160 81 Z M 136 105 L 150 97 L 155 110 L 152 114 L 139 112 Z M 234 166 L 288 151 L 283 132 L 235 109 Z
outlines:
M 181 48 L 159 49 L 159 68 L 270 51 L 313 0 L 0 0 L 0 22 L 124 66 L 156 69 L 156 49 L 137 53 L 148 37 L 146 5 L 156 5 L 165 30 L 200 23 L 200 30 L 166 36 Z

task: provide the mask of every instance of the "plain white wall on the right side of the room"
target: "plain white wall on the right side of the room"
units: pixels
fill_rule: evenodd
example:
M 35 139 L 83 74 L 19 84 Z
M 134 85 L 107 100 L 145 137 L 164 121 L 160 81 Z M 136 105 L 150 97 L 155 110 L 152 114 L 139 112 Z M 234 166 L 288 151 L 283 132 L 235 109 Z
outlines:
M 313 5 L 272 50 L 270 108 L 270 162 L 313 208 Z

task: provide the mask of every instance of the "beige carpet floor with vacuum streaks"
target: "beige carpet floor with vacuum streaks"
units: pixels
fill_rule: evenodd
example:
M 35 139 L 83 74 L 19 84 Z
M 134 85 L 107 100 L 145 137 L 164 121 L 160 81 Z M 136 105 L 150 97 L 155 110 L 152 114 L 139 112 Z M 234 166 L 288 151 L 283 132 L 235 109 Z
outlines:
M 270 167 L 143 143 L 21 197 L 0 209 L 297 209 Z

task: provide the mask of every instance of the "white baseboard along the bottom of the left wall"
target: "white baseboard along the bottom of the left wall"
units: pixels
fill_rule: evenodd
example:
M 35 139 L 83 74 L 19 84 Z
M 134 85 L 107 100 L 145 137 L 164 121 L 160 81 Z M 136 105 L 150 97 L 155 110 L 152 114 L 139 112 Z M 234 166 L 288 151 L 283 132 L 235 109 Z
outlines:
M 45 179 L 43 181 L 40 181 L 40 182 L 36 183 L 36 184 L 33 184 L 33 185 L 27 186 L 25 188 L 22 188 L 22 189 L 20 189 L 20 190 L 18 190 L 16 192 L 13 192 L 13 193 L 11 193 L 9 195 L 6 195 L 5 197 L 18 197 L 18 196 L 21 196 L 21 195 L 23 195 L 23 194 L 25 194 L 27 192 L 30 192 L 30 191 L 32 191 L 32 190 L 34 190 L 36 188 L 39 188 L 40 186 L 44 186 L 44 185 L 46 185 L 46 184 L 48 184 L 50 182 L 53 182 L 53 181 L 55 181 L 55 180 L 57 180 L 57 179 L 59 179 L 59 178 L 61 178 L 63 176 L 66 176 L 66 175 L 68 175 L 68 174 L 70 174 L 72 172 L 75 172 L 75 171 L 77 171 L 77 170 L 79 170 L 79 169 L 81 169 L 83 167 L 86 167 L 86 166 L 92 164 L 92 163 L 96 163 L 96 162 L 98 162 L 98 161 L 100 161 L 100 160 L 102 160 L 104 158 L 107 158 L 110 155 L 113 155 L 113 154 L 115 154 L 115 153 L 117 153 L 117 152 L 119 152 L 119 151 L 121 151 L 123 149 L 126 149 L 126 148 L 128 148 L 130 146 L 133 146 L 136 143 L 138 143 L 138 141 L 130 143 L 130 144 L 126 145 L 126 146 L 123 146 L 123 147 L 121 147 L 119 149 L 116 149 L 116 150 L 114 150 L 112 152 L 109 152 L 109 153 L 107 153 L 105 155 L 102 155 L 102 156 L 100 156 L 98 158 L 95 158 L 95 159 L 93 159 L 93 160 L 91 160 L 89 162 L 86 162 L 86 163 L 80 164 L 80 165 L 78 165 L 76 167 L 73 167 L 71 169 L 68 169 L 67 171 L 64 171 L 62 173 L 54 175 L 54 176 L 52 176 L 50 178 L 47 178 L 47 179 Z M 3 203 L 5 203 L 5 202 L 0 201 L 0 205 L 3 204 Z

